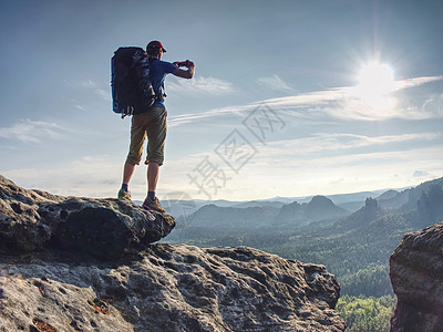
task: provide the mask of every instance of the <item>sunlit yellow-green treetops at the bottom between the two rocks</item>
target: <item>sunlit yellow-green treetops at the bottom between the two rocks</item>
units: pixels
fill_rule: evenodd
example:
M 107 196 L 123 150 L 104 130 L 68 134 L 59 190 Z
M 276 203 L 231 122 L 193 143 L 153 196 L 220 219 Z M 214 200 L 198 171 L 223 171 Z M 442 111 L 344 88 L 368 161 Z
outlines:
M 337 311 L 347 323 L 347 332 L 389 332 L 396 300 L 391 295 L 341 297 Z

